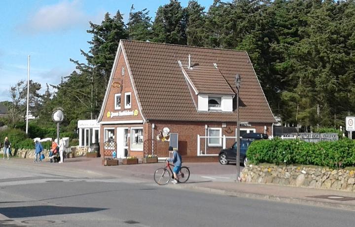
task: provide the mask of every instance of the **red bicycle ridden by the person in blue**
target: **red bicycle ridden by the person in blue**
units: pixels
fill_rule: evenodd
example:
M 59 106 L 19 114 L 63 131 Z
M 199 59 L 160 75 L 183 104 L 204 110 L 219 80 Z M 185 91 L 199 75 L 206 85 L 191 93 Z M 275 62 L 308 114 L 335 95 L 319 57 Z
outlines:
M 171 169 L 170 166 L 174 166 L 167 162 L 167 165 L 163 168 L 158 168 L 155 170 L 154 173 L 154 181 L 158 185 L 166 185 L 169 183 L 169 181 L 173 178 L 174 179 L 174 174 L 173 170 Z M 170 170 L 170 171 L 169 171 Z M 190 177 L 190 170 L 186 166 L 182 166 L 180 171 L 178 172 L 178 182 L 179 183 L 185 183 Z

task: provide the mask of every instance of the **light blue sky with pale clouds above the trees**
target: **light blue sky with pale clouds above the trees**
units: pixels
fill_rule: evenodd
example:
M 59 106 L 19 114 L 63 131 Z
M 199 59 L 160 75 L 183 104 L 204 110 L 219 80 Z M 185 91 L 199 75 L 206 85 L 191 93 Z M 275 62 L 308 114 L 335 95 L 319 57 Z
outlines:
M 183 7 L 188 0 L 180 0 Z M 213 0 L 198 0 L 208 11 Z M 10 101 L 9 89 L 30 79 L 42 85 L 59 84 L 75 66 L 70 58 L 86 63 L 80 49 L 88 52 L 92 36 L 89 21 L 101 24 L 106 12 L 117 10 L 127 23 L 129 11 L 147 8 L 152 20 L 159 6 L 169 0 L 0 0 L 0 102 Z

